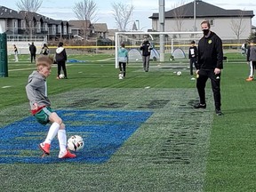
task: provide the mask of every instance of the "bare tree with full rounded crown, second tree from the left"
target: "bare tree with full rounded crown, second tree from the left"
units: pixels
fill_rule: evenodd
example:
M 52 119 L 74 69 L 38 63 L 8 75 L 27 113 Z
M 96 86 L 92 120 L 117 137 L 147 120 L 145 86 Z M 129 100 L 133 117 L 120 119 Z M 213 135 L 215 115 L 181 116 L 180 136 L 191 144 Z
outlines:
M 82 20 L 82 36 L 87 38 L 87 29 L 90 23 L 96 20 L 97 5 L 93 0 L 82 0 L 75 4 L 73 12 L 76 14 L 78 20 Z

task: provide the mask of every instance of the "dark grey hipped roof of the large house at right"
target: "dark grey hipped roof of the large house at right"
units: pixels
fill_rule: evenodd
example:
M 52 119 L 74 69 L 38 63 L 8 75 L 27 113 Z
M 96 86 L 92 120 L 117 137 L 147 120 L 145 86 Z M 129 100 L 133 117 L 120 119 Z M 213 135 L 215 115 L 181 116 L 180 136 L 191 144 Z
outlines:
M 183 4 L 180 7 L 176 7 L 168 12 L 165 12 L 165 18 L 175 18 L 177 14 L 182 14 L 183 18 L 194 17 L 194 1 L 188 4 Z M 237 16 L 253 17 L 253 11 L 243 10 L 225 10 L 218 6 L 207 4 L 201 0 L 196 0 L 196 17 L 237 17 Z M 153 13 L 150 19 L 158 19 L 158 13 Z

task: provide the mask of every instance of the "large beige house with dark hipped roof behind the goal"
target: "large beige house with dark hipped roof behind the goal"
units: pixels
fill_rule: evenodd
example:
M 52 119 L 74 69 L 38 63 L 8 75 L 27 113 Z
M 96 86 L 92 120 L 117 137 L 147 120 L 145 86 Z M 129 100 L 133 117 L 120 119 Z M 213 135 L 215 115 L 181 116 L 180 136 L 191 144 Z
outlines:
M 196 20 L 194 20 L 194 4 L 196 3 Z M 253 11 L 226 10 L 204 1 L 196 0 L 165 12 L 164 31 L 201 30 L 203 20 L 209 20 L 211 29 L 222 40 L 247 39 L 252 33 Z M 159 15 L 153 13 L 153 31 L 159 31 Z M 196 25 L 195 25 L 196 23 Z

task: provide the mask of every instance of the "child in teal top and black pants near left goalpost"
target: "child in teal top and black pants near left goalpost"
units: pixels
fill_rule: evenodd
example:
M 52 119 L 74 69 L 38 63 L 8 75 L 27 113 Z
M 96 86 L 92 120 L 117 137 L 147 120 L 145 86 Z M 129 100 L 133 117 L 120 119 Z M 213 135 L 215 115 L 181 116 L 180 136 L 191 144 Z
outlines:
M 128 51 L 125 49 L 124 43 L 118 50 L 118 63 L 119 63 L 119 79 L 124 79 L 126 74 L 126 64 L 128 64 Z

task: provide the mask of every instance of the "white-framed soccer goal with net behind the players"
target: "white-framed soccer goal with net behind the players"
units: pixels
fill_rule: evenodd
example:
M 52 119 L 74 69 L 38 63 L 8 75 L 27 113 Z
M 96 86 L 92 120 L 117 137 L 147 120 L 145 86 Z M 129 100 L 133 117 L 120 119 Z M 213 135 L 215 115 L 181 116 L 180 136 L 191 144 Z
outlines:
M 192 40 L 198 42 L 202 37 L 202 31 L 196 32 L 116 32 L 116 68 L 118 68 L 117 53 L 120 44 L 124 43 L 129 51 L 129 63 L 141 60 L 140 44 L 147 36 L 149 42 L 153 45 L 151 51 L 151 60 L 159 60 L 161 62 L 169 61 L 173 58 L 173 52 L 176 49 L 187 53 Z M 175 55 L 174 55 L 175 56 Z M 161 60 L 162 59 L 162 60 Z M 175 60 L 175 57 L 173 58 Z

